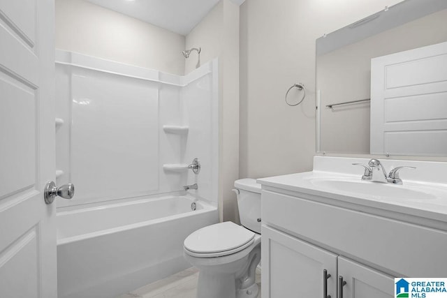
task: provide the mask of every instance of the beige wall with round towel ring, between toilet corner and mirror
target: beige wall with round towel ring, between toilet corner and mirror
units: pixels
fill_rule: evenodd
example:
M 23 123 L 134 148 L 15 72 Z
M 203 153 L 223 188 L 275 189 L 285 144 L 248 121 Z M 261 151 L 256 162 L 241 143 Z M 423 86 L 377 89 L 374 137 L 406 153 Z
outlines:
M 240 10 L 240 177 L 312 170 L 315 40 L 401 0 L 247 0 Z M 301 105 L 284 103 L 302 82 Z M 297 93 L 291 92 L 291 100 Z

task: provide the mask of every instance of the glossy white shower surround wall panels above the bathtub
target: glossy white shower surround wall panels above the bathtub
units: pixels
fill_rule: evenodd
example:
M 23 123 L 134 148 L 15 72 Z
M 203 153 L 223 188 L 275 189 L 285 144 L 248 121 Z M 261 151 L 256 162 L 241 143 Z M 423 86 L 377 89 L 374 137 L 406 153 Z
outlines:
M 217 206 L 217 60 L 179 76 L 57 50 L 56 82 L 64 123 L 57 128 L 57 182 L 76 187 L 75 198 L 58 207 L 193 183 L 196 195 Z M 193 158 L 203 165 L 198 176 L 163 169 Z

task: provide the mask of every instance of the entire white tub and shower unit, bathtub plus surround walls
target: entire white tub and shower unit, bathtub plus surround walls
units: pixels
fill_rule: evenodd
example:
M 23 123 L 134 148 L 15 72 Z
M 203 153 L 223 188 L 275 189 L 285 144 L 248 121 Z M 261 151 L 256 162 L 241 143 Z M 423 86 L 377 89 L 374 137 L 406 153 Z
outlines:
M 197 49 L 200 53 L 200 49 Z M 58 297 L 114 297 L 190 267 L 217 223 L 217 61 L 185 76 L 57 50 Z

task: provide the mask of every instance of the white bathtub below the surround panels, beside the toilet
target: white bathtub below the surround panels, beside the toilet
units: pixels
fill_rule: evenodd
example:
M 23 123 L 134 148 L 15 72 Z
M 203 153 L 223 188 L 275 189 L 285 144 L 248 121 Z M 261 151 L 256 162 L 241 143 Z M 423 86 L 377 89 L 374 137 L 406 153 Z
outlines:
M 60 211 L 58 297 L 116 297 L 182 271 L 184 239 L 218 218 L 216 207 L 173 195 Z

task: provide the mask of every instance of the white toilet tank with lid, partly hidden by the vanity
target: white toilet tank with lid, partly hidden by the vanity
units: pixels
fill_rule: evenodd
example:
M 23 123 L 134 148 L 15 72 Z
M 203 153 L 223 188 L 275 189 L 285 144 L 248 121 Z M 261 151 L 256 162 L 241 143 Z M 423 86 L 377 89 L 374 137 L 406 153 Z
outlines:
M 247 229 L 261 234 L 261 184 L 255 179 L 235 181 L 240 223 Z

